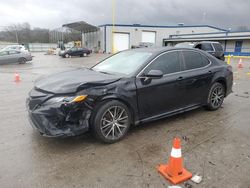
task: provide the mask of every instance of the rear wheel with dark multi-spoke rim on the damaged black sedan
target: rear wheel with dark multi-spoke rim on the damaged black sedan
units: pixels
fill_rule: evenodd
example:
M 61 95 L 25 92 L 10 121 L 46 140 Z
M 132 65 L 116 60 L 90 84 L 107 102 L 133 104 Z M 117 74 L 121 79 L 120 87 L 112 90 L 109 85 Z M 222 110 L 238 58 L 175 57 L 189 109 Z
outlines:
M 217 110 L 221 107 L 225 98 L 225 87 L 215 82 L 209 90 L 206 108 L 210 111 Z

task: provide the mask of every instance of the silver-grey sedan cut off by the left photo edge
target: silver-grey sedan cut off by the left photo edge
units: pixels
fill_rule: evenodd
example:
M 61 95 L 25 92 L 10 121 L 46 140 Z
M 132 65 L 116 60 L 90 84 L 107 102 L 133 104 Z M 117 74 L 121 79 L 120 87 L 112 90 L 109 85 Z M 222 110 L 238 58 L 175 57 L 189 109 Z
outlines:
M 20 63 L 24 64 L 31 61 L 32 56 L 30 52 L 17 51 L 17 50 L 1 50 L 0 51 L 0 64 Z

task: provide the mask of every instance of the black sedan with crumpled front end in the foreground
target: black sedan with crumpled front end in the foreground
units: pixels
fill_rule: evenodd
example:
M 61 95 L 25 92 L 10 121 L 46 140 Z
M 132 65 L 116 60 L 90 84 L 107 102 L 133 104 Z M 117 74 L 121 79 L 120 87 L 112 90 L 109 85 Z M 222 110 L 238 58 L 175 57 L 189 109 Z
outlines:
M 217 110 L 232 92 L 232 67 L 198 49 L 144 48 L 117 53 L 90 69 L 36 81 L 27 107 L 45 136 L 90 130 L 122 139 L 131 125 L 198 107 Z

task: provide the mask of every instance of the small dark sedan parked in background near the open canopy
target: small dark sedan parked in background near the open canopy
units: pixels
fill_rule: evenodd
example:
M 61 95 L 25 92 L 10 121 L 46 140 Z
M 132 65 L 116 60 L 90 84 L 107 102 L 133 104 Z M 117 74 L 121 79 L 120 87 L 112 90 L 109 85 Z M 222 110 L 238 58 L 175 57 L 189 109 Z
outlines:
M 86 57 L 87 55 L 91 54 L 92 50 L 89 50 L 87 48 L 78 48 L 78 47 L 72 47 L 70 49 L 67 49 L 65 51 L 61 51 L 59 53 L 62 57 L 71 57 L 71 56 L 80 56 L 80 57 Z

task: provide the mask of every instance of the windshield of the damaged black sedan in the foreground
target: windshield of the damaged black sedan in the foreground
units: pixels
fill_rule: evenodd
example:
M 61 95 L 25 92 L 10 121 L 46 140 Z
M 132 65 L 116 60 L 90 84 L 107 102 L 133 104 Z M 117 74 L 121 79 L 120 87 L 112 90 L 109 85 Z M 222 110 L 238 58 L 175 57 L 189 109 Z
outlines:
M 96 66 L 93 70 L 105 73 L 131 75 L 152 55 L 150 52 L 124 51 L 115 54 Z

